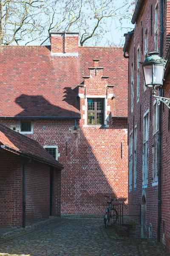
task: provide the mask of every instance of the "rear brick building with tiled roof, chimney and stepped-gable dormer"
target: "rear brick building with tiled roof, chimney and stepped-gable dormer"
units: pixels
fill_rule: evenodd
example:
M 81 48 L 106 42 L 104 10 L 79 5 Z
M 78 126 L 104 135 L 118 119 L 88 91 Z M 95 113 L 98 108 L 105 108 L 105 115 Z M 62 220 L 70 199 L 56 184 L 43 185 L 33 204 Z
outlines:
M 127 203 L 122 48 L 78 47 L 78 33 L 52 33 L 51 47 L 0 49 L 0 122 L 64 166 L 58 214 L 103 214 L 105 194 Z

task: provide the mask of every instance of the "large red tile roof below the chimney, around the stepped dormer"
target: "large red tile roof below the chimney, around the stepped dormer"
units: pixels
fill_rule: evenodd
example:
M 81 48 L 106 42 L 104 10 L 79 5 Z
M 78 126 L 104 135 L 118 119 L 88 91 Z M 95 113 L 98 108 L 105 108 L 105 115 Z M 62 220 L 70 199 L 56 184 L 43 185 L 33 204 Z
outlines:
M 128 65 L 122 47 L 79 47 L 79 57 L 59 57 L 45 46 L 1 46 L 0 117 L 80 118 L 77 86 L 94 58 L 114 85 L 112 114 L 127 116 Z

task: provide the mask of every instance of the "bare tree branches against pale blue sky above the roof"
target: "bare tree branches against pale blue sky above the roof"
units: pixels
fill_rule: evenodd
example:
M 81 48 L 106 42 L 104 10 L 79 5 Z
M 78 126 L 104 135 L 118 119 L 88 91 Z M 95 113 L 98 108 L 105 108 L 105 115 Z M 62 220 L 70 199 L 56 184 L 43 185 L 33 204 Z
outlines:
M 0 0 L 1 44 L 48 44 L 51 31 L 79 32 L 80 44 L 107 33 L 107 22 L 129 14 L 124 0 Z M 115 3 L 116 6 L 113 6 Z M 94 44 L 95 44 L 94 42 Z

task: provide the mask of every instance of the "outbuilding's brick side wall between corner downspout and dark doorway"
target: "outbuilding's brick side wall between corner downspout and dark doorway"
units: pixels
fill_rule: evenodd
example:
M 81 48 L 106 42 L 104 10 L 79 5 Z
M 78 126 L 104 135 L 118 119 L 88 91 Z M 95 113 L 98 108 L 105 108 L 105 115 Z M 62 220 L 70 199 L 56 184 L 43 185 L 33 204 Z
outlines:
M 50 214 L 50 166 L 36 161 L 26 164 L 26 221 Z

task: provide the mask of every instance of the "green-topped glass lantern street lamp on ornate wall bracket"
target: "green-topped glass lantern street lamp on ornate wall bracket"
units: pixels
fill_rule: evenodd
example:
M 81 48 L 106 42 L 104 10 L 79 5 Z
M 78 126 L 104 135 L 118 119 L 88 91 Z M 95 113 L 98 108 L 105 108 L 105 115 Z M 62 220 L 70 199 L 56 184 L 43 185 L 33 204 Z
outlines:
M 140 62 L 143 68 L 145 86 L 153 88 L 153 97 L 156 98 L 158 105 L 163 102 L 170 109 L 170 99 L 155 95 L 156 90 L 163 85 L 167 61 L 159 57 L 159 52 L 149 52 L 148 55 L 144 62 Z

